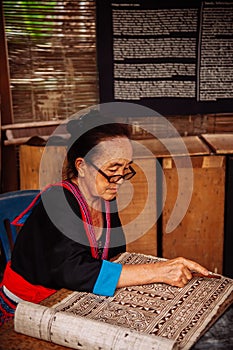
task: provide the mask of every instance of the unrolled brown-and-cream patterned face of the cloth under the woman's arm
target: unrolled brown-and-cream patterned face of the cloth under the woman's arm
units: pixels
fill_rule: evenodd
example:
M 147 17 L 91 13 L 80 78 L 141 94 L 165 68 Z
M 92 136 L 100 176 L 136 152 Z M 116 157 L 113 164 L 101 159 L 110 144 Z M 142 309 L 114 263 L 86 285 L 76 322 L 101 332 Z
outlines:
M 148 264 L 161 260 L 143 254 L 124 253 L 116 262 Z M 178 349 L 188 350 L 232 300 L 232 279 L 223 276 L 220 279 L 194 277 L 183 288 L 164 283 L 136 285 L 117 289 L 111 298 L 74 292 L 53 308 L 56 312 L 172 339 Z M 211 344 L 208 349 L 212 350 L 214 346 Z

